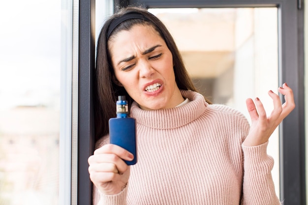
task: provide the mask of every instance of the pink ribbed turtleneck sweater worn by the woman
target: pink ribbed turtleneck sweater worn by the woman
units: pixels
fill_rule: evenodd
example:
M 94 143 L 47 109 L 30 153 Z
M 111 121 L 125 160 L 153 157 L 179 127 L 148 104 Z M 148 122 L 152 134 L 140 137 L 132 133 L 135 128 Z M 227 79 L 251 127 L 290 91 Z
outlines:
M 131 106 L 136 119 L 138 162 L 117 195 L 94 188 L 96 205 L 278 205 L 267 143 L 245 147 L 249 124 L 238 111 L 209 105 L 202 95 L 181 91 L 191 102 L 154 111 Z M 108 137 L 96 147 L 108 143 Z

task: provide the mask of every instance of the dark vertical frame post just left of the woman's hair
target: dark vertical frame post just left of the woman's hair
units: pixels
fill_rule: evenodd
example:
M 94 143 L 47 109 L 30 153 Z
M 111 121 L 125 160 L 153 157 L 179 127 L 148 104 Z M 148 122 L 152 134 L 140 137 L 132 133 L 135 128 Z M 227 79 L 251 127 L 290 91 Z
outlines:
M 92 79 L 95 67 L 95 0 L 79 0 L 77 204 L 92 205 L 88 158 L 94 150 Z M 73 195 L 74 193 L 72 193 Z

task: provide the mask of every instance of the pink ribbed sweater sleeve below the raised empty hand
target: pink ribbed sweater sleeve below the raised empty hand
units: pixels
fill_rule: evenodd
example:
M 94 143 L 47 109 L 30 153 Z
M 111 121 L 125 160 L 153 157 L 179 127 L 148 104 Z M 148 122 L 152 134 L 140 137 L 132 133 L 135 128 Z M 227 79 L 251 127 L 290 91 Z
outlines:
M 254 147 L 242 145 L 244 179 L 242 205 L 280 205 L 271 171 L 273 157 L 267 154 L 268 142 Z

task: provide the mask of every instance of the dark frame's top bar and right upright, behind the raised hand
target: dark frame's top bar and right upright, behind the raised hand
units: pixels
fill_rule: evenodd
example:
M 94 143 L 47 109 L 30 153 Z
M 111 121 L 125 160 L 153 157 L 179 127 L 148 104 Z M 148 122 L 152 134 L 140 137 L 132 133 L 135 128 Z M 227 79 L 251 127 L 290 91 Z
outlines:
M 280 199 L 285 204 L 306 204 L 303 1 L 117 0 L 115 2 L 123 6 L 143 4 L 147 8 L 277 8 L 278 84 L 288 82 L 293 89 L 297 105 L 279 126 Z

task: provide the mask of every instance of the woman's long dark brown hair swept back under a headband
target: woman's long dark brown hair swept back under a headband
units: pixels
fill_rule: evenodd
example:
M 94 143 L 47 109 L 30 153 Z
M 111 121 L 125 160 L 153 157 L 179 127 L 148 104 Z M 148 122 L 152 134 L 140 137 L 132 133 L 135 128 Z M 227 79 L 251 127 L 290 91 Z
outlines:
M 110 24 L 117 18 L 128 13 L 142 14 L 146 20 L 142 19 L 129 19 L 117 26 L 107 39 L 107 32 Z M 108 40 L 112 40 L 116 33 L 121 30 L 129 30 L 132 26 L 151 25 L 159 33 L 162 39 L 165 40 L 166 45 L 173 56 L 175 80 L 182 90 L 197 91 L 193 85 L 182 60 L 182 56 L 164 24 L 153 14 L 149 13 L 146 9 L 140 7 L 126 7 L 112 15 L 105 22 L 101 28 L 98 42 L 97 42 L 97 56 L 96 56 L 96 72 L 94 77 L 93 98 L 94 98 L 94 120 L 95 120 L 95 140 L 108 134 L 108 120 L 116 116 L 115 103 L 119 95 L 125 95 L 129 105 L 133 99 L 127 94 L 125 89 L 118 86 L 112 79 L 114 70 L 112 68 L 111 58 L 108 51 Z

